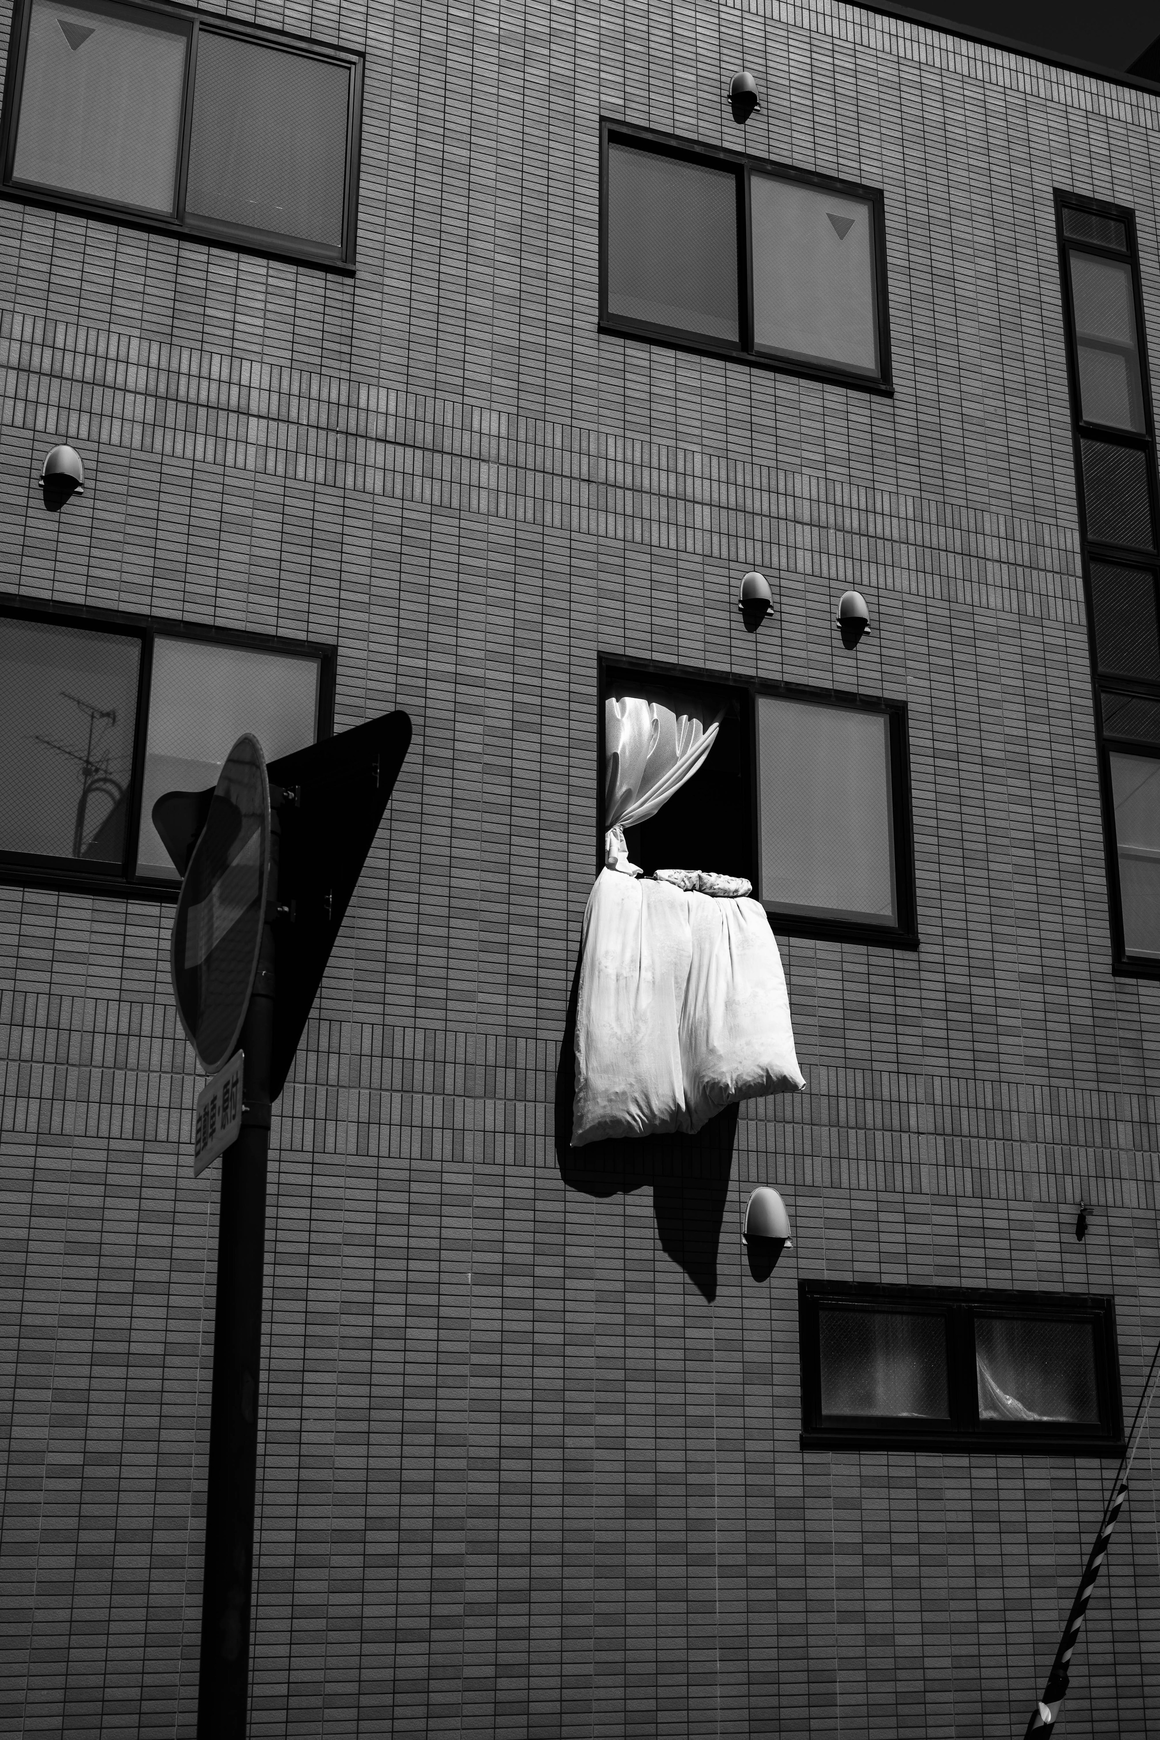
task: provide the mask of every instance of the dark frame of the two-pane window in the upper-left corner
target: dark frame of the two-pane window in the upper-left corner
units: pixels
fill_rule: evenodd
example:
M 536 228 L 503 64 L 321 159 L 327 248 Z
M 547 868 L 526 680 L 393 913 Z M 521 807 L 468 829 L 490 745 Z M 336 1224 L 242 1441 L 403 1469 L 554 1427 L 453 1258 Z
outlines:
M 172 235 L 184 240 L 207 242 L 242 254 L 259 254 L 264 259 L 282 259 L 297 266 L 320 266 L 327 271 L 351 275 L 355 271 L 355 244 L 358 230 L 358 169 L 363 87 L 362 52 L 355 49 L 336 49 L 330 44 L 315 42 L 306 37 L 290 37 L 285 31 L 264 30 L 257 24 L 243 24 L 216 12 L 203 12 L 195 7 L 170 3 L 170 0 L 85 0 L 85 5 L 92 7 L 96 12 L 110 12 L 118 17 L 153 14 L 155 17 L 163 19 L 170 28 L 174 24 L 184 26 L 183 33 L 188 35 L 190 47 L 181 96 L 181 137 L 177 144 L 174 216 L 165 218 L 158 212 L 144 212 L 141 207 L 115 205 L 110 200 L 90 198 L 83 193 L 57 193 L 52 188 L 33 186 L 12 179 L 31 0 L 16 0 L 12 10 L 9 57 L 3 78 L 3 117 L 0 120 L 0 198 L 12 200 L 19 205 L 40 205 L 49 211 L 64 211 L 77 218 L 117 223 L 130 230 L 148 230 L 157 235 Z M 190 137 L 193 129 L 197 49 L 202 30 L 209 30 L 217 37 L 235 37 L 242 42 L 254 42 L 268 49 L 283 49 L 310 59 L 322 59 L 330 64 L 350 68 L 351 96 L 346 120 L 343 247 L 337 252 L 294 237 L 277 237 L 270 230 L 250 230 L 243 224 L 184 216 Z

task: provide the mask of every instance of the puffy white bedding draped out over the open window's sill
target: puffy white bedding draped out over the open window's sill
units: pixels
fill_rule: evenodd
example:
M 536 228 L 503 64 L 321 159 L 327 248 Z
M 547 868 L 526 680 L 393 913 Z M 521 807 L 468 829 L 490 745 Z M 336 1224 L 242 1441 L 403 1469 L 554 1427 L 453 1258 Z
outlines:
M 602 870 L 584 912 L 572 1147 L 692 1133 L 736 1100 L 803 1086 L 763 907 Z

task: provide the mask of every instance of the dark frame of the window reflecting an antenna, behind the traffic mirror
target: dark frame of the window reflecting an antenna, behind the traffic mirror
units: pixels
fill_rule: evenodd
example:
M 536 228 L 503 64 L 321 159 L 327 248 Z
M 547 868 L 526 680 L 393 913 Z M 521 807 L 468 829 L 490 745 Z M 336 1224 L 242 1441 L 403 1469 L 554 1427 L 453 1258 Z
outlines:
M 33 853 L 0 851 L 0 884 L 16 887 L 45 887 L 73 894 L 110 894 L 115 900 L 176 901 L 181 884 L 158 877 L 137 875 L 137 842 L 141 835 L 141 797 L 144 786 L 146 736 L 150 724 L 150 693 L 153 679 L 153 646 L 163 640 L 198 640 L 207 646 L 242 647 L 247 652 L 277 652 L 282 658 L 308 658 L 318 663 L 318 703 L 315 713 L 315 741 L 334 733 L 334 680 L 337 652 L 332 646 L 315 640 L 289 640 L 280 635 L 247 633 L 237 628 L 214 628 L 203 623 L 172 621 L 165 616 L 137 616 L 127 611 L 106 611 L 94 606 L 57 606 L 43 599 L 26 599 L 0 593 L 0 621 L 49 623 L 57 628 L 80 628 L 96 633 L 117 633 L 141 644 L 137 666 L 137 708 L 132 731 L 132 774 L 129 809 L 125 814 L 125 849 L 120 867 L 97 868 L 90 863 L 78 868 L 75 858 L 49 858 Z

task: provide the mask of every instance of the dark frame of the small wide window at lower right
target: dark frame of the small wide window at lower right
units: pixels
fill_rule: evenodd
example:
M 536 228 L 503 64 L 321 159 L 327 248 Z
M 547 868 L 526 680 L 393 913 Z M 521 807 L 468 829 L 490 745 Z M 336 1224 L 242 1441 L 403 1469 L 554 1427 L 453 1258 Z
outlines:
M 823 1305 L 941 1315 L 946 1321 L 951 1422 L 823 1415 L 817 1322 Z M 1090 1322 L 1096 1331 L 1099 1427 L 1068 1427 L 1056 1420 L 1037 1425 L 1017 1420 L 979 1420 L 974 1364 L 974 1319 L 979 1315 Z M 798 1350 L 802 1449 L 927 1449 L 1014 1456 L 1120 1456 L 1123 1453 L 1120 1355 L 1111 1295 L 798 1281 Z

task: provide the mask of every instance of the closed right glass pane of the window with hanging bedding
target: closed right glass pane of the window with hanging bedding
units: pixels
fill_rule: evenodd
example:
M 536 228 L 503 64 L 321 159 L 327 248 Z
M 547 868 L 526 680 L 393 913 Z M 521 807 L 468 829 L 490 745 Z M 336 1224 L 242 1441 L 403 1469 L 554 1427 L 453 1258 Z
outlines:
M 762 901 L 897 924 L 885 713 L 760 696 L 757 717 Z

